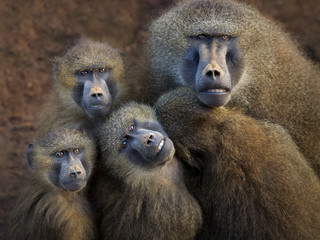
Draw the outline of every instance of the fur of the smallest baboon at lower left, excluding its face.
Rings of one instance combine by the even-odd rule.
[[[78,192],[55,187],[49,180],[50,155],[70,146],[85,148],[87,164],[94,160],[94,146],[75,130],[54,130],[37,140],[34,168],[9,220],[10,240],[95,239],[94,212],[86,189]],[[87,174],[90,174],[87,172]]]

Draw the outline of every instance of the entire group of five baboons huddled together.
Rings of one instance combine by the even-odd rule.
[[[8,239],[320,239],[320,68],[288,33],[181,1],[141,66],[90,39],[55,59]]]

